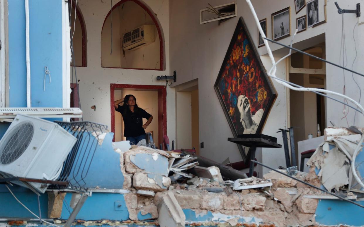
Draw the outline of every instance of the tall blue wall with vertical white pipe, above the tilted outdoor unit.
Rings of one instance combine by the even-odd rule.
[[[9,106],[27,106],[24,0],[8,1]],[[29,1],[32,107],[62,107],[62,1]],[[44,66],[51,73],[43,91]]]

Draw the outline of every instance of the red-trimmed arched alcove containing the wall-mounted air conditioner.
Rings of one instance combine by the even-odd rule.
[[[124,43],[123,47],[123,38],[126,40],[127,37],[124,34],[141,27],[144,32],[138,34],[144,39],[129,38],[133,43]],[[138,35],[130,34],[133,37]],[[138,0],[122,0],[114,5],[104,20],[101,32],[101,66],[164,70],[163,59],[163,33],[151,9]]]

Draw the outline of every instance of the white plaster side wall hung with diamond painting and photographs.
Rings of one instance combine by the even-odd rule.
[[[178,1],[170,0],[170,66],[171,69],[177,70],[177,84],[194,80],[199,80],[199,130],[200,142],[205,142],[205,148],[201,149],[201,155],[222,162],[226,157],[230,160],[241,160],[236,145],[227,142],[228,137],[232,137],[232,132],[227,124],[222,108],[218,102],[218,98],[214,92],[213,85],[221,67],[229,42],[233,35],[237,24],[238,17],[230,19],[218,25],[217,22],[199,24],[199,10],[211,5],[221,5],[231,2],[230,0],[200,0],[200,1]],[[271,14],[288,6],[291,7],[291,32],[293,34],[296,29],[296,18],[306,14],[306,8],[302,9],[296,15],[293,0],[254,0],[252,1],[256,9],[259,19],[268,19],[268,37],[272,37],[272,21]],[[359,1],[339,1],[340,7],[345,9],[355,8],[356,3],[364,4],[363,0]],[[248,27],[250,35],[254,42],[257,42],[257,26],[252,17],[252,13],[246,2],[237,1],[238,16],[243,16]],[[324,0],[319,0],[320,21],[324,20]],[[339,62],[340,53],[340,31],[341,31],[341,15],[337,13],[335,4],[328,1],[327,6],[328,22],[321,24],[315,28],[308,28],[307,31],[298,33],[294,43],[297,48],[308,48],[320,42],[326,42],[326,56],[330,61]],[[348,67],[351,67],[355,57],[354,42],[352,40],[352,31],[357,19],[354,14],[344,15],[345,18],[345,37],[347,38]],[[363,18],[363,16],[362,16]],[[360,19],[363,21],[364,19]],[[364,35],[364,25],[356,28],[354,36],[356,37],[356,47],[358,49],[358,57],[353,69],[363,73],[363,69],[359,68],[360,62],[363,62],[364,56],[363,44],[360,43],[360,37]],[[326,39],[317,38],[319,35],[326,33]],[[188,35],[186,35],[188,34]],[[309,42],[305,40],[313,38]],[[322,36],[321,36],[322,37]],[[288,45],[292,37],[280,40],[283,44]],[[299,43],[298,43],[299,42]],[[284,56],[288,50],[282,49],[277,44],[270,45],[274,51],[275,57]],[[267,51],[265,47],[258,48],[258,52],[263,56]],[[271,68],[268,57],[261,57],[266,69]],[[278,60],[278,58],[276,59]],[[285,61],[278,65],[276,75],[280,78],[286,78]],[[342,70],[326,65],[327,67],[327,88],[342,92],[343,76]],[[347,94],[351,97],[358,98],[358,90],[352,81],[351,74],[347,75]],[[360,80],[360,85],[364,88],[363,78],[355,76]],[[276,133],[278,128],[287,127],[287,111],[286,111],[286,89],[282,85],[273,82],[278,97],[273,105],[270,115],[266,121],[263,134],[272,135],[278,138],[278,143],[282,144],[281,134]],[[335,103],[331,100],[327,101],[327,122],[332,121],[336,125],[346,125],[345,119],[341,120],[343,114],[340,113],[343,108],[342,104]],[[360,119],[360,120],[359,120]],[[348,121],[353,122],[353,111],[350,110]],[[357,125],[363,125],[363,117],[357,116]],[[351,125],[350,123],[349,125]],[[279,165],[285,166],[284,153],[282,149],[262,149],[262,161],[272,167]],[[266,170],[263,170],[265,172]]]

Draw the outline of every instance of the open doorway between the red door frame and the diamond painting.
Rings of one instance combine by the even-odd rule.
[[[199,155],[198,82],[193,86],[179,85],[176,88],[176,147],[192,149]]]

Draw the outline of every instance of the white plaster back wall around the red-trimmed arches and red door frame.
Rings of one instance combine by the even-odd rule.
[[[116,4],[118,1],[112,1]],[[168,75],[169,68],[169,1],[146,0],[145,3],[157,16],[165,38],[166,70],[131,70],[101,67],[101,29],[110,1],[78,0],[87,30],[87,67],[77,67],[80,101],[85,121],[99,122],[111,130],[110,84],[165,85],[156,77]],[[175,139],[175,92],[167,87],[167,134]],[[96,105],[96,111],[90,107]]]

